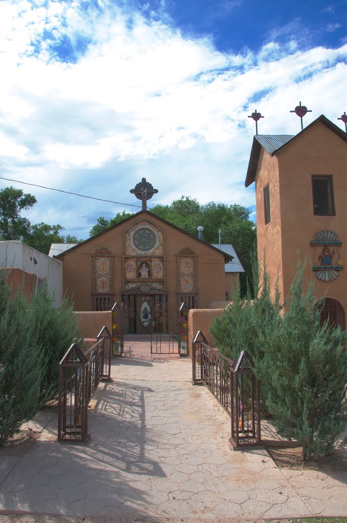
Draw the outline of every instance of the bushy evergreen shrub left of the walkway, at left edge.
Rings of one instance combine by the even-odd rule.
[[[79,338],[67,300],[55,308],[43,286],[31,303],[20,287],[11,301],[7,275],[0,270],[0,444],[56,395],[59,361]]]

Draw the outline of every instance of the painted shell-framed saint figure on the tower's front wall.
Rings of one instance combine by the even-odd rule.
[[[339,276],[343,268],[343,257],[341,252],[342,242],[338,240],[338,234],[325,229],[315,234],[311,245],[316,247],[312,270],[321,281],[332,281]]]

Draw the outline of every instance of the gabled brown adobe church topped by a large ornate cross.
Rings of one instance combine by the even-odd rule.
[[[177,311],[183,302],[204,309],[223,301],[233,256],[149,212],[146,202],[158,191],[145,178],[131,192],[142,211],[55,256],[75,311],[109,311],[123,302],[124,333],[143,334],[151,333],[160,303]]]

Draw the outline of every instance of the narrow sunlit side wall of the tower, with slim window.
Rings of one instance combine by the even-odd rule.
[[[280,181],[276,156],[271,156],[263,148],[259,155],[256,173],[256,206],[257,206],[257,248],[258,258],[264,259],[269,274],[274,282],[277,272],[280,276],[280,291],[283,293],[283,257],[282,257],[282,223],[280,203]],[[270,222],[265,224],[264,188],[269,185]],[[274,295],[274,285],[271,286]]]

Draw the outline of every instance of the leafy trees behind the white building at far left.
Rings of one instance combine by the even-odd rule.
[[[37,203],[31,194],[22,189],[5,187],[0,190],[0,240],[21,240],[38,251],[48,254],[52,243],[78,243],[76,236],[63,236],[64,227],[57,223],[31,224],[21,212]]]

